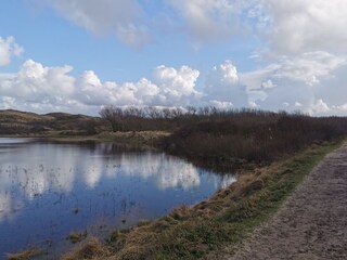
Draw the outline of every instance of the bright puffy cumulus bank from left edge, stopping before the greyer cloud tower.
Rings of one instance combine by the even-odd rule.
[[[73,77],[73,67],[48,67],[26,61],[15,74],[0,76],[0,107],[27,110],[74,110],[98,113],[107,104],[185,106],[202,95],[195,89],[200,72],[188,66],[178,69],[158,66],[153,81],[102,82],[93,70]]]

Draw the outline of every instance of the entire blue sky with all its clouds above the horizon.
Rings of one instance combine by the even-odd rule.
[[[3,0],[0,109],[347,115],[346,0]]]

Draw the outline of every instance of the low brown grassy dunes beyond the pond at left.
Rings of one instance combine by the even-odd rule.
[[[39,115],[20,110],[0,110],[0,134],[92,134],[102,125],[99,117],[49,113]]]

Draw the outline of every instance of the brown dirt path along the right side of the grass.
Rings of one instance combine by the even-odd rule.
[[[217,259],[347,259],[347,144],[325,157],[235,253],[226,251]]]

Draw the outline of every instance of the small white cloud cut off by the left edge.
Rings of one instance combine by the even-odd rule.
[[[24,49],[14,39],[9,36],[5,39],[0,37],[0,66],[5,66],[11,63],[12,56],[20,56]]]

